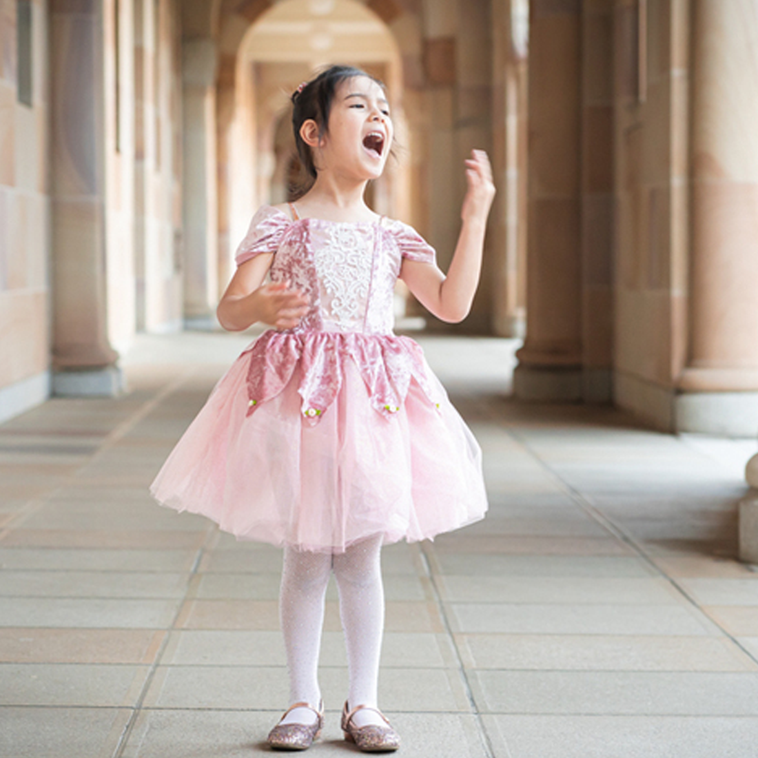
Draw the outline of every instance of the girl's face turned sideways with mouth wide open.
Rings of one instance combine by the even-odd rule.
[[[341,177],[377,179],[390,155],[393,135],[384,89],[368,77],[347,79],[334,92],[315,164]]]

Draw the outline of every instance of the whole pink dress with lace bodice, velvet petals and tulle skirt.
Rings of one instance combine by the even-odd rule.
[[[482,518],[478,443],[421,347],[393,334],[402,258],[433,262],[434,249],[400,221],[293,221],[265,205],[236,263],[260,253],[274,253],[271,280],[290,280],[309,311],[236,359],[153,496],[239,539],[330,553]]]

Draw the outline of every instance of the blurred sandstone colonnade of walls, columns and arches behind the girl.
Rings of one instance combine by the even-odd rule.
[[[217,327],[299,168],[290,94],[340,62],[397,124],[371,204],[443,267],[490,152],[463,329],[523,340],[517,398],[754,437],[756,49],[752,0],[3,0],[0,420],[118,393],[138,334]],[[402,286],[397,311],[423,316]]]

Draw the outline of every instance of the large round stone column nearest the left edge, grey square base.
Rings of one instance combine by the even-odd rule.
[[[123,389],[108,343],[102,3],[50,4],[53,393]]]

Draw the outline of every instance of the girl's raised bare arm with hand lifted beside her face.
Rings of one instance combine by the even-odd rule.
[[[418,302],[442,321],[463,321],[471,310],[481,271],[484,233],[495,186],[492,168],[483,150],[466,161],[468,190],[463,200],[461,233],[447,276],[436,265],[403,259],[400,278]]]

